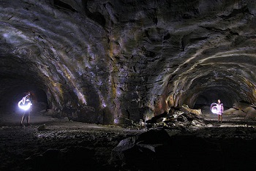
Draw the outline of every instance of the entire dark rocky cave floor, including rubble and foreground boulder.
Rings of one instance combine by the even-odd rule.
[[[217,123],[216,115],[203,113],[197,120],[151,129],[39,114],[31,115],[32,126],[20,127],[20,115],[14,114],[1,115],[0,121],[0,170],[256,168],[256,122],[234,115],[224,115]]]

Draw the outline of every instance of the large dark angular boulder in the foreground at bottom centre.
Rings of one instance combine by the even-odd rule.
[[[171,137],[179,132],[177,129],[151,129],[135,137],[128,137],[121,140],[116,148],[113,148],[111,163],[122,162],[123,165],[129,165],[129,168],[127,168],[129,170],[142,170],[154,164],[156,162],[155,160],[159,158],[159,155],[161,158],[166,157],[168,159],[167,156],[169,153],[167,151],[173,148],[170,145]]]

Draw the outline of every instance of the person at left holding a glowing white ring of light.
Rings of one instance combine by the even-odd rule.
[[[31,126],[30,122],[30,113],[31,113],[31,105],[32,105],[32,99],[30,92],[26,94],[26,96],[23,96],[23,98],[19,102],[19,107],[24,110],[23,116],[21,118],[20,126],[23,125],[23,121],[26,119],[27,126]]]

